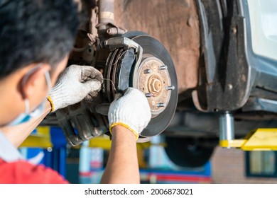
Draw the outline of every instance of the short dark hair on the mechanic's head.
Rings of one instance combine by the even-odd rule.
[[[72,0],[0,0],[0,79],[36,62],[55,66],[78,24]]]

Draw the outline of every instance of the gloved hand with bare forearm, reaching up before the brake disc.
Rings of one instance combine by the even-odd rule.
[[[140,182],[136,139],[150,120],[148,100],[141,91],[128,88],[123,96],[116,95],[109,107],[112,147],[101,183]]]

